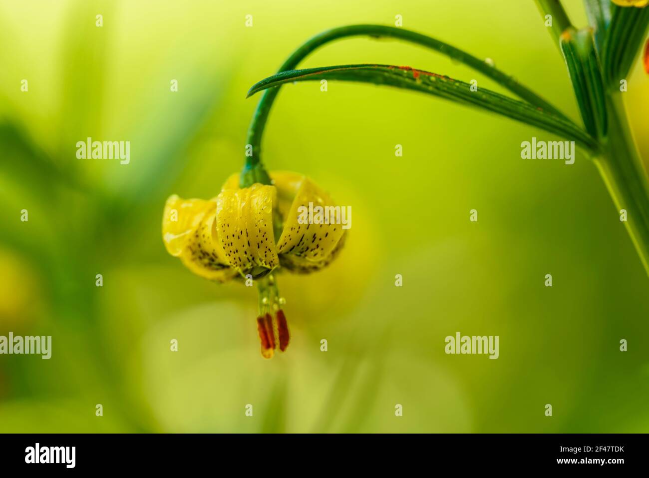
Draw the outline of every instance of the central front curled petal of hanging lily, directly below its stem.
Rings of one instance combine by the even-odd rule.
[[[230,266],[241,275],[263,275],[278,266],[273,234],[275,186],[226,189],[216,198],[216,223]]]

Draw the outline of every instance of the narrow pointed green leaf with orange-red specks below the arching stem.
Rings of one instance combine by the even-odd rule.
[[[472,91],[471,85],[463,81],[404,66],[361,64],[282,71],[254,84],[248,96],[287,82],[323,79],[384,84],[415,90],[516,119],[574,140],[591,150],[598,147],[597,142],[572,121],[543,108],[533,107],[485,88]]]

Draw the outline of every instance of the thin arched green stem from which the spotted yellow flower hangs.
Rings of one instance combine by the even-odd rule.
[[[528,103],[532,104],[534,107],[543,108],[548,112],[552,112],[557,116],[567,119],[565,114],[559,111],[556,107],[539,97],[539,95],[532,92],[529,88],[526,88],[526,86],[517,82],[513,77],[510,77],[499,69],[494,68],[484,60],[469,55],[469,53],[453,47],[452,45],[435,40],[435,38],[431,38],[430,36],[402,28],[387,27],[385,25],[349,25],[347,27],[339,27],[317,34],[295,50],[284,64],[280,66],[278,71],[295,69],[304,58],[318,47],[334,40],[348,38],[350,36],[397,38],[399,40],[406,40],[413,44],[428,47],[438,51],[439,53],[443,53],[453,60],[461,62],[476,71],[480,71],[480,73],[483,73],[485,76],[498,82],[498,84],[504,86],[504,88],[507,88],[510,92],[519,96],[521,99],[528,101]],[[250,186],[254,182],[262,182],[263,184],[270,184],[271,182],[268,173],[262,166],[262,135],[268,119],[268,114],[278,92],[279,87],[266,90],[252,116],[247,137],[247,144],[252,147],[252,155],[245,158],[245,166],[241,172],[240,179],[241,187]]]

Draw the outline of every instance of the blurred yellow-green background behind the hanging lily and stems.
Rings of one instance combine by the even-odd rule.
[[[397,14],[578,118],[532,0],[0,1],[0,335],[53,336],[50,360],[0,356],[1,432],[649,431],[649,280],[593,164],[520,159],[520,142],[555,139],[532,127],[390,88],[285,86],[265,162],[312,177],[353,222],[330,268],[280,275],[292,339],[273,360],[254,288],[165,252],[167,196],[213,197],[241,168],[248,88],[317,32]],[[364,62],[501,91],[391,40],[302,66]],[[649,158],[639,64],[629,84]],[[130,164],[78,160],[88,136],[129,140]],[[500,358],[445,355],[457,331],[500,336]]]

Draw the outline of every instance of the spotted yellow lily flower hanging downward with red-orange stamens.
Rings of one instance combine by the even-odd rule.
[[[310,205],[335,207],[326,192],[297,173],[274,172],[270,177],[272,185],[239,188],[239,175],[234,174],[209,200],[172,195],[162,218],[167,252],[193,273],[221,283],[258,281],[257,326],[262,355],[268,359],[289,342],[275,272],[320,270],[345,242],[345,229],[336,221],[304,221],[304,208]]]

